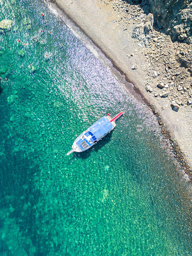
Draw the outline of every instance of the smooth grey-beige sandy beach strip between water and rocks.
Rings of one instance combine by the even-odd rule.
[[[112,6],[114,1],[106,0],[56,0],[57,6],[77,25],[84,33],[91,38],[105,55],[113,62],[114,67],[121,70],[128,81],[134,84],[134,89],[139,91],[155,112],[160,115],[161,121],[166,124],[172,135],[172,146],[180,148],[184,159],[181,156],[181,165],[192,166],[192,108],[180,106],[178,112],[171,108],[170,98],[154,97],[154,92],[146,91],[146,84],[151,80],[148,73],[157,70],[156,64],[151,64],[146,59],[146,48],[140,47],[138,42],[132,38],[132,31],[135,21],[131,18],[129,22],[121,22],[124,14]],[[55,3],[49,3],[52,8],[56,8]],[[60,17],[65,21],[62,12],[55,9]],[[123,19],[123,18],[122,18]],[[150,46],[149,46],[150,48]],[[130,55],[133,55],[130,57]],[[132,69],[137,65],[137,69]],[[152,79],[157,83],[161,79],[167,78],[159,74],[157,79]],[[163,80],[162,80],[163,81]],[[167,81],[164,81],[167,83]],[[178,146],[177,146],[178,144]],[[176,157],[177,157],[176,151]],[[185,168],[184,168],[185,169]],[[191,178],[191,169],[185,169]]]

